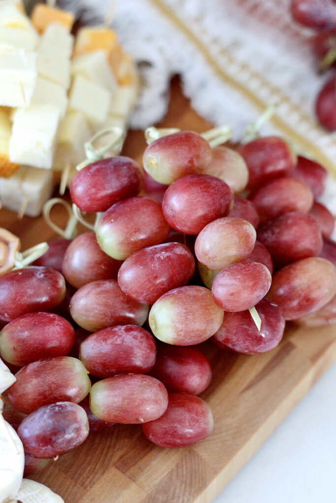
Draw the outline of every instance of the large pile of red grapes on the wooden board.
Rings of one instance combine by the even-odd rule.
[[[151,143],[143,163],[84,167],[71,197],[103,212],[96,232],[0,278],[0,354],[16,371],[4,417],[26,475],[115,423],[162,447],[198,442],[213,418],[197,345],[253,355],[279,344],[286,320],[336,321],[320,164],[279,137],[236,151],[189,131]]]

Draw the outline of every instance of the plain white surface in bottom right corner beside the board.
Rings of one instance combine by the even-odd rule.
[[[336,363],[213,503],[336,503]]]

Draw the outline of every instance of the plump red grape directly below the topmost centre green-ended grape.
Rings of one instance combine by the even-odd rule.
[[[162,210],[173,229],[198,234],[208,223],[225,217],[232,204],[233,193],[223,180],[209,175],[188,175],[166,190]]]

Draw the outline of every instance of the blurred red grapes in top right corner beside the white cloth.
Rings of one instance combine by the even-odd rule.
[[[292,0],[291,12],[295,21],[316,30],[311,39],[319,70],[334,68],[336,62],[336,3],[334,0]],[[336,74],[324,83],[315,104],[320,124],[336,130]]]

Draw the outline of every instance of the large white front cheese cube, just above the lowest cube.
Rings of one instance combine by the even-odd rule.
[[[59,107],[32,105],[14,116],[10,160],[50,169],[57,140]]]

